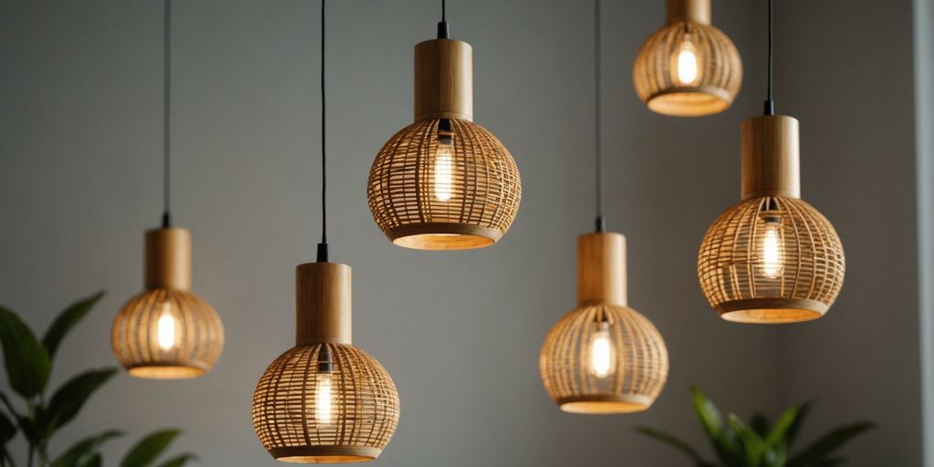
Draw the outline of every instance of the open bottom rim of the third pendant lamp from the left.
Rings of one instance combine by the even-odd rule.
[[[414,249],[473,249],[488,247],[502,232],[488,227],[453,222],[400,225],[386,233],[392,243]]]

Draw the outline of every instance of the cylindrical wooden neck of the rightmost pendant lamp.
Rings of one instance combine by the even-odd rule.
[[[798,120],[766,115],[743,120],[743,199],[801,197]]]

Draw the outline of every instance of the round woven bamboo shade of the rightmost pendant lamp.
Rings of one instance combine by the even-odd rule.
[[[767,220],[776,225],[772,233]],[[778,252],[771,263],[763,253],[767,235]],[[739,322],[820,318],[840,293],[844,270],[843,246],[828,219],[785,196],[730,207],[704,235],[698,255],[704,296],[723,318]]]

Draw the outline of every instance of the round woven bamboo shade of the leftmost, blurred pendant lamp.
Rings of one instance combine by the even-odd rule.
[[[174,342],[159,342],[160,319],[174,322]],[[218,360],[224,328],[210,304],[184,290],[146,290],[130,299],[114,319],[114,354],[131,375],[155,379],[204,375]]]

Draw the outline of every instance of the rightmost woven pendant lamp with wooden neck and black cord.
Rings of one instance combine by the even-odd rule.
[[[775,115],[772,16],[765,115],[743,121],[743,201],[714,221],[698,255],[701,290],[720,316],[785,323],[824,316],[843,285],[833,226],[800,199],[798,120]]]

